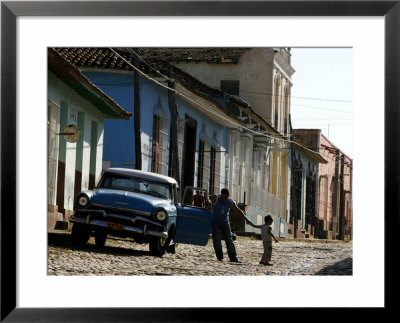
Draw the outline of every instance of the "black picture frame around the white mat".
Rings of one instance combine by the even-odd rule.
[[[389,262],[399,233],[400,4],[396,1],[2,1],[1,2],[1,321],[238,321],[244,308],[17,308],[16,299],[16,19],[18,16],[384,16],[385,17],[385,309],[398,286]],[[373,125],[371,125],[373,128]],[[368,138],[366,138],[368,140]],[[373,147],[371,147],[373,155]],[[369,161],[372,165],[372,160]],[[372,167],[372,166],[371,166]],[[371,188],[373,189],[373,188]],[[372,225],[372,224],[371,224]],[[372,233],[371,233],[371,238]],[[372,259],[373,261],[373,259]],[[390,280],[389,280],[390,275]],[[39,292],[39,291],[38,291]],[[298,294],[298,291],[295,291]],[[316,296],[318,293],[316,294]],[[242,297],[238,295],[238,297]],[[266,297],[273,297],[267,293]],[[312,307],[312,301],[310,301]],[[298,310],[298,309],[297,309]],[[285,319],[298,311],[285,309]],[[332,310],[332,309],[331,309]],[[251,316],[270,315],[251,309]],[[297,314],[296,314],[297,313]],[[337,313],[337,312],[335,312]],[[338,317],[340,319],[340,317]]]

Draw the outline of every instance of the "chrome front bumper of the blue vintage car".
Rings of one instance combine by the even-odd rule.
[[[113,231],[117,231],[117,232],[143,234],[143,235],[149,235],[149,236],[158,237],[158,238],[167,238],[168,237],[167,232],[148,230],[147,224],[145,224],[143,229],[141,229],[141,228],[136,228],[136,227],[132,227],[129,225],[112,223],[112,222],[108,222],[108,221],[90,220],[90,216],[88,216],[87,218],[80,218],[75,215],[71,216],[71,218],[69,219],[69,222],[91,225],[94,227],[109,229],[109,230],[113,230]]]

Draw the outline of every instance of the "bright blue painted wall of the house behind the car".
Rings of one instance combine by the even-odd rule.
[[[102,71],[85,71],[84,74],[98,87],[100,87],[107,95],[114,99],[122,108],[134,113],[134,86],[133,75],[128,73],[112,73]],[[150,171],[151,169],[151,145],[153,132],[153,114],[155,108],[161,105],[168,116],[170,126],[170,113],[168,107],[168,90],[145,77],[140,78],[140,100],[141,100],[141,142],[142,153],[144,153],[143,145],[148,146],[147,158],[142,160],[142,169]],[[176,104],[178,106],[178,117],[185,119],[188,114],[191,118],[197,120],[196,131],[196,151],[202,124],[205,123],[206,133],[210,138],[210,143],[214,137],[214,130],[217,131],[217,140],[222,146],[222,150],[226,151],[229,147],[229,129],[223,127],[206,117],[191,103],[183,98],[176,96]],[[135,139],[134,139],[134,118],[130,120],[106,120],[104,124],[104,149],[103,160],[110,161],[111,167],[134,168],[135,163]],[[169,137],[168,137],[169,149]],[[222,159],[225,154],[221,154]],[[196,152],[195,166],[195,183],[197,181],[197,162],[198,154]],[[224,166],[221,160],[221,166]],[[221,170],[220,186],[227,186],[224,167]]]

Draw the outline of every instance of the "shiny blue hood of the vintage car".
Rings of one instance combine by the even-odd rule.
[[[151,213],[157,206],[171,205],[169,200],[159,197],[105,188],[93,190],[93,195],[90,200],[91,203],[95,204],[146,213]]]

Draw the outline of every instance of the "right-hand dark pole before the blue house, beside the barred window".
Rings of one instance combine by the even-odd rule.
[[[172,65],[169,66],[169,80],[168,87],[175,88],[175,81],[173,80]],[[178,109],[175,102],[174,91],[168,89],[168,106],[171,113],[171,137],[170,137],[170,154],[172,154],[170,161],[171,175],[180,185],[179,180],[179,158],[178,158]]]

